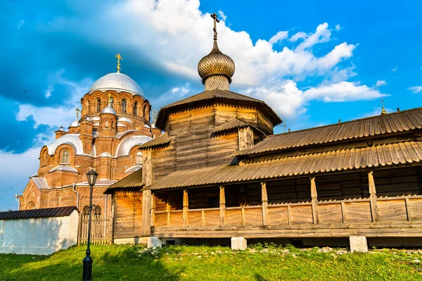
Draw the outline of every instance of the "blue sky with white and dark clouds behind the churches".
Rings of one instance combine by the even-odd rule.
[[[203,91],[212,49],[236,64],[231,90],[301,130],[422,106],[421,1],[20,1],[0,10],[0,210],[16,209],[39,150],[75,119],[101,76],[122,73],[153,109]],[[79,106],[80,107],[80,106]]]

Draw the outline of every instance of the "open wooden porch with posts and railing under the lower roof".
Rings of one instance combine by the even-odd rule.
[[[291,192],[283,193],[286,188],[280,187],[281,181],[255,182],[260,190],[250,196],[250,206],[226,206],[227,202],[233,201],[233,192],[227,191],[235,188],[229,185],[216,187],[219,206],[215,208],[198,208],[201,204],[193,203],[202,200],[198,194],[196,199],[189,198],[195,189],[179,190],[180,209],[177,209],[174,191],[165,202],[160,199],[162,195],[153,194],[151,235],[160,238],[421,237],[422,184],[419,171],[415,167],[376,171],[378,177],[374,178],[374,171],[368,170],[364,177],[359,175],[359,182],[357,173],[342,174],[343,180],[333,178],[340,189],[331,184],[329,178],[338,175],[311,176],[302,178],[301,185],[295,187],[295,198]],[[388,177],[386,173],[394,175]],[[305,181],[309,185],[302,185]],[[378,196],[376,182],[379,183]],[[347,190],[352,194],[347,194]],[[356,194],[361,194],[361,198]],[[258,196],[260,200],[257,200]],[[239,201],[241,197],[238,196]],[[208,199],[212,202],[212,194]],[[194,208],[189,208],[190,204]]]

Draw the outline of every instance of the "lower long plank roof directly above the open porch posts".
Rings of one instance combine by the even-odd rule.
[[[245,163],[241,166],[182,170],[171,173],[144,189],[219,185],[343,170],[396,166],[421,163],[421,161],[422,142],[400,142]]]

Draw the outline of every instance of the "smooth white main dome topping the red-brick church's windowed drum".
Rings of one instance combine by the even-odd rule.
[[[100,79],[96,80],[89,89],[89,93],[94,91],[105,92],[107,90],[113,90],[116,92],[129,92],[133,95],[142,96],[145,98],[143,91],[139,85],[132,80],[131,77],[122,73],[108,73]]]

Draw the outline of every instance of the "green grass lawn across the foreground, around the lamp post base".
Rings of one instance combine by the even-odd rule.
[[[92,246],[93,280],[422,280],[422,254],[377,250],[338,254],[258,244],[223,246]],[[81,280],[85,246],[51,256],[0,254],[0,280]]]

